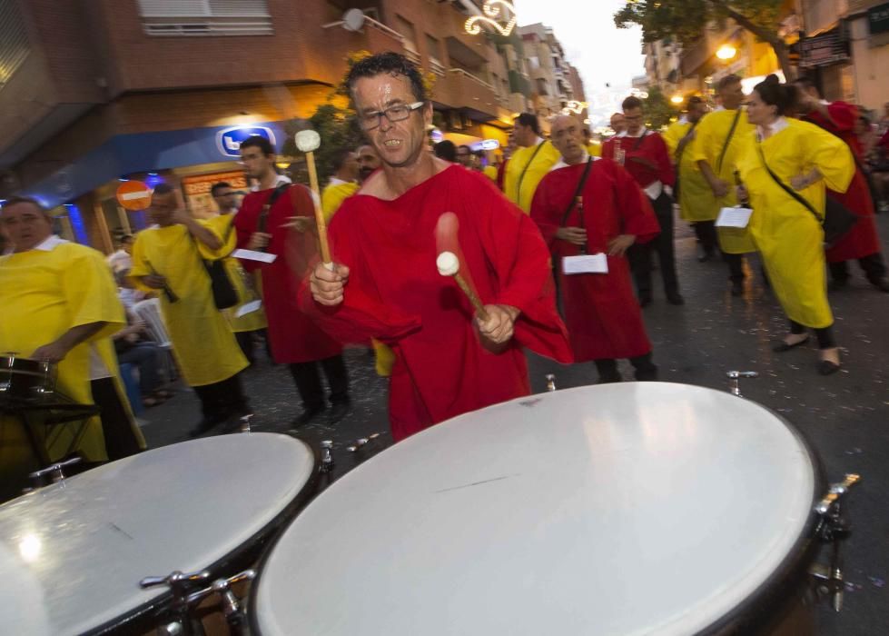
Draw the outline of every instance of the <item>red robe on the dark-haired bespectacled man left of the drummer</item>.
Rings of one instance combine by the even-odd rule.
[[[245,247],[257,231],[262,206],[272,196],[272,189],[247,194],[234,217],[238,247]],[[262,273],[262,303],[269,323],[272,357],[276,363],[306,363],[342,353],[342,345],[321,331],[300,310],[299,290],[307,262],[317,252],[311,233],[300,234],[282,228],[288,217],[314,217],[311,194],[305,186],[294,184],[278,197],[269,210],[266,232],[272,234],[267,252],[278,256],[274,263],[242,260],[248,272]]]

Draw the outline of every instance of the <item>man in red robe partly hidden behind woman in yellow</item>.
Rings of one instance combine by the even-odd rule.
[[[849,234],[826,251],[831,289],[845,287],[849,280],[846,261],[858,259],[867,280],[877,289],[889,292],[886,266],[883,254],[880,253],[880,238],[874,223],[874,200],[867,187],[867,177],[862,172],[862,148],[854,130],[855,122],[858,120],[858,107],[845,102],[825,102],[821,99],[815,82],[808,77],[796,79],[795,84],[799,93],[797,106],[803,114],[803,120],[820,126],[845,141],[852,151],[857,166],[852,183],[845,193],[827,191],[827,196],[834,198],[859,217],[858,223],[854,224]]]

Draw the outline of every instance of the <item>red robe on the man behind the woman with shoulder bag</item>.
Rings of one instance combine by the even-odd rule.
[[[845,141],[854,154],[856,163],[861,165],[861,143],[854,132],[855,122],[858,119],[858,108],[845,102],[833,102],[827,105],[827,113],[830,120],[817,111],[805,115],[803,120],[824,128],[828,133],[835,134]],[[828,263],[839,263],[862,258],[880,251],[880,238],[876,233],[874,223],[874,200],[871,191],[867,187],[867,177],[860,167],[855,168],[852,183],[845,193],[827,191],[827,196],[844,204],[849,210],[858,214],[858,223],[852,231],[846,234],[833,247],[826,251]]]

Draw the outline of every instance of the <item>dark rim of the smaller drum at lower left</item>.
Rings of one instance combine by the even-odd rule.
[[[283,433],[273,432],[265,434],[283,435]],[[278,536],[280,536],[281,534],[280,531],[284,527],[286,527],[287,521],[295,518],[296,515],[300,512],[301,508],[304,507],[311,500],[311,496],[315,492],[319,481],[318,467],[321,463],[321,455],[319,454],[317,449],[315,449],[309,442],[306,442],[301,437],[294,437],[292,435],[283,436],[289,437],[296,442],[300,442],[309,449],[309,452],[311,452],[312,462],[311,471],[309,473],[309,481],[303,484],[300,492],[296,493],[296,496],[291,500],[291,502],[287,504],[282,512],[276,514],[272,521],[266,523],[258,532],[253,533],[250,539],[243,542],[240,546],[238,546],[231,552],[226,553],[217,561],[213,561],[211,565],[203,568],[203,570],[209,571],[211,573],[210,579],[207,581],[208,585],[219,576],[220,570],[224,569],[232,561],[236,561],[244,552],[247,552],[248,548],[246,546],[255,546],[260,542],[269,541],[270,538],[272,538],[272,543],[276,543],[278,540]],[[159,448],[163,448],[163,446]],[[265,549],[263,549],[263,553],[264,552]],[[136,581],[133,581],[133,583],[135,582]],[[128,611],[111,621],[106,621],[103,624],[98,625],[97,627],[94,627],[88,631],[84,631],[82,636],[94,636],[98,634],[113,633],[127,627],[134,621],[140,621],[143,619],[154,621],[156,619],[160,619],[163,616],[163,613],[169,609],[171,601],[173,601],[173,593],[169,590],[165,590],[158,596],[154,597],[152,600],[145,601],[142,605],[139,605],[133,610]]]

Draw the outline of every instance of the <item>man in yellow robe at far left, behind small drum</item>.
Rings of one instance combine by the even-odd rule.
[[[125,326],[123,305],[102,253],[53,234],[52,217],[33,199],[14,197],[0,211],[9,253],[0,256],[0,351],[56,363],[56,390],[98,403],[103,418],[54,427],[44,437],[51,461],[119,459],[145,448],[120,383],[111,335]],[[21,422],[0,425],[0,480],[35,468]],[[15,480],[15,482],[20,482]]]

